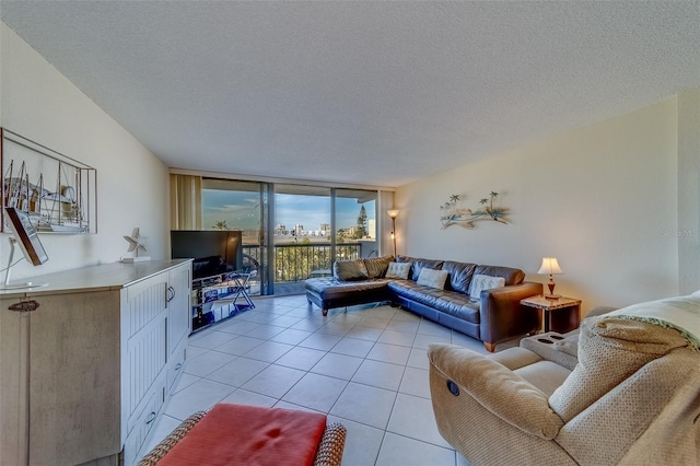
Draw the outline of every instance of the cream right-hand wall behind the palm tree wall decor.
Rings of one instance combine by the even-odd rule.
[[[541,257],[555,256],[565,273],[557,292],[583,299],[584,313],[677,294],[677,119],[674,97],[402,186],[399,254],[518,267],[540,282]],[[439,207],[450,195],[466,195],[474,208],[491,190],[510,208],[510,224],[441,231]],[[698,196],[685,206],[699,208]],[[686,288],[700,288],[693,280]]]

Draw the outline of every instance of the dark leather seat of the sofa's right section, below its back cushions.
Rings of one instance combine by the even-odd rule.
[[[399,296],[430,306],[436,311],[458,317],[472,324],[479,324],[479,304],[469,301],[469,296],[457,291],[438,290],[418,284],[413,280],[393,280],[388,288]]]

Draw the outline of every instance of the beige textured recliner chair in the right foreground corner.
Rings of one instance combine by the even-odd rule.
[[[697,337],[609,314],[580,330],[578,351],[570,339],[489,356],[432,345],[442,436],[475,466],[699,465]]]

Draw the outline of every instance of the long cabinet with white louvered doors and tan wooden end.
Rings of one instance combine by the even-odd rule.
[[[108,264],[0,292],[0,465],[138,459],[185,361],[190,269]]]

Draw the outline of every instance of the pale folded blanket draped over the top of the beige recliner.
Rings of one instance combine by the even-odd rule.
[[[646,322],[680,331],[693,349],[700,348],[700,295],[667,298],[633,304],[608,317]]]

